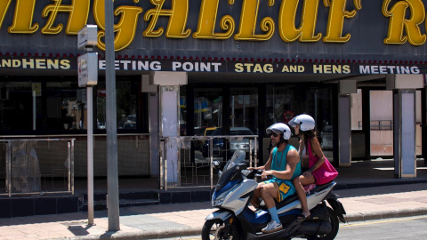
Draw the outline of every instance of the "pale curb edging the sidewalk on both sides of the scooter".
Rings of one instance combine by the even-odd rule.
[[[345,216],[347,223],[351,221],[363,221],[363,220],[383,220],[390,218],[401,218],[418,215],[427,215],[427,207],[403,209],[397,211],[378,211],[378,212],[360,212],[353,213]],[[119,239],[119,240],[138,240],[138,239],[161,239],[168,237],[180,237],[180,236],[199,236],[202,232],[202,228],[176,228],[166,231],[149,231],[142,232],[137,231],[133,233],[126,232],[106,232],[101,236],[76,236],[62,239],[69,240],[94,240],[94,239]]]

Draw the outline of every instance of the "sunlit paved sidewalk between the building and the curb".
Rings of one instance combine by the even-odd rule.
[[[427,214],[427,183],[336,190],[349,222]],[[0,239],[157,239],[200,235],[210,202],[158,204],[120,209],[120,230],[108,232],[108,212],[0,219]]]

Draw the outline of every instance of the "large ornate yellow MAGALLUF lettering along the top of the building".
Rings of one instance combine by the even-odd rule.
[[[105,35],[104,1],[68,1],[70,4],[65,2],[2,0],[0,1],[0,28],[7,28],[12,35],[31,35],[37,31],[43,35],[57,35],[61,31],[65,31],[67,35],[77,35],[78,30],[88,23],[89,16],[92,15],[98,28],[101,28],[98,31],[97,47],[102,51],[105,50],[105,44],[102,42],[102,37]],[[117,5],[117,2],[120,3]],[[357,19],[358,14],[364,11],[381,16],[383,20],[388,21],[389,27],[387,35],[383,37],[383,44],[408,43],[417,46],[425,44],[427,38],[424,33],[426,14],[422,0],[383,0],[381,9],[375,10],[377,12],[369,8],[364,9],[361,0],[201,0],[197,9],[191,8],[189,0],[133,0],[127,1],[129,4],[125,2],[116,1],[115,3],[117,6],[115,14],[118,19],[115,25],[116,51],[125,49],[133,43],[135,37],[138,39],[141,36],[269,41],[272,36],[278,35],[285,43],[322,41],[326,44],[343,44],[349,42],[351,35],[356,31],[365,30],[363,28],[349,28],[348,32],[343,30],[350,20]],[[12,24],[2,26],[7,13],[13,11],[12,3],[15,3]],[[36,4],[44,5],[36,8]],[[235,5],[239,6],[237,11],[240,12],[239,15],[219,15],[220,9],[222,12],[236,12]],[[36,9],[42,8],[41,12],[36,12]],[[328,11],[327,20],[322,20],[324,26],[318,26],[318,14],[325,11]],[[260,12],[270,12],[270,16],[260,19]],[[58,23],[59,16],[63,14],[68,15],[68,21]],[[198,16],[197,28],[189,28],[189,16],[195,14]],[[40,17],[43,19],[41,20]],[[165,28],[159,27],[163,18],[169,19]],[[144,22],[142,23],[140,19]],[[145,27],[142,32],[137,32],[141,24]],[[375,22],[365,24],[375,24]],[[366,26],[366,28],[369,27]],[[318,32],[317,28],[326,30]]]

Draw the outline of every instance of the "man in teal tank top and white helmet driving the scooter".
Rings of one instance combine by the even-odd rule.
[[[286,124],[272,124],[266,130],[270,134],[270,140],[273,147],[267,163],[263,166],[251,169],[261,169],[262,179],[272,176],[271,180],[266,180],[258,184],[254,190],[254,197],[251,203],[257,207],[260,204],[260,197],[267,206],[271,221],[267,227],[262,228],[263,233],[272,233],[283,228],[278,219],[276,201],[279,203],[286,196],[296,193],[293,180],[301,174],[300,157],[296,148],[288,144],[291,137],[291,129]]]

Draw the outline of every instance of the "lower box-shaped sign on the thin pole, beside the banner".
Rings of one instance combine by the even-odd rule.
[[[98,84],[98,53],[86,52],[77,58],[78,86]]]

